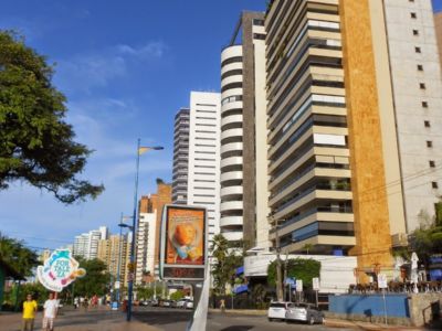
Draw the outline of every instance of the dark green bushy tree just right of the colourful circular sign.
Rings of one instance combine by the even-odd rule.
[[[101,259],[77,258],[81,268],[86,269],[86,276],[75,280],[75,296],[103,296],[108,292],[110,274]]]

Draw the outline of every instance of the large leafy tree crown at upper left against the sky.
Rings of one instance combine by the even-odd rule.
[[[0,190],[25,181],[70,204],[104,188],[76,178],[92,151],[73,140],[53,73],[23,38],[0,30]]]

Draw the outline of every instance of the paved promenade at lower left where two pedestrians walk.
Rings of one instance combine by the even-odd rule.
[[[39,312],[35,318],[34,330],[41,330],[42,313]],[[1,331],[20,331],[21,313],[0,313]],[[54,329],[60,331],[158,331],[159,329],[147,325],[133,319],[126,322],[125,314],[120,311],[108,309],[90,309],[84,311],[67,310],[60,314]]]

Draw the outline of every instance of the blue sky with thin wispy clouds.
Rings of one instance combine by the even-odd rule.
[[[442,0],[433,1],[442,10]],[[190,90],[219,90],[220,51],[242,10],[265,0],[3,0],[0,29],[18,29],[56,63],[67,121],[94,149],[83,177],[103,183],[96,201],[65,206],[23,183],[0,191],[0,231],[32,247],[56,248],[76,234],[130,214],[136,139],[161,145],[140,162],[139,192],[171,178],[175,113]]]

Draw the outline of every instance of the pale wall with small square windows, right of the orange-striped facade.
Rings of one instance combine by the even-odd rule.
[[[407,231],[441,195],[442,81],[431,0],[383,1]]]

